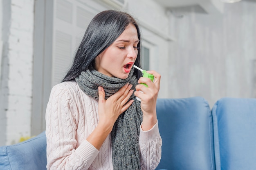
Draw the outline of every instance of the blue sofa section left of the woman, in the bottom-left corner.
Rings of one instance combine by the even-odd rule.
[[[0,170],[43,170],[46,164],[45,132],[24,142],[0,147]]]

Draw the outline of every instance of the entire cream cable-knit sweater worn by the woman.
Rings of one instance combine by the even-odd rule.
[[[110,135],[100,150],[86,138],[98,124],[98,101],[87,96],[75,81],[52,88],[46,109],[47,169],[112,170]],[[158,124],[140,132],[140,165],[154,170],[161,159]]]

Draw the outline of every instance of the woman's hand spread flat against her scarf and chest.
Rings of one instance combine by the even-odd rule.
[[[118,116],[126,111],[133,100],[127,102],[133,93],[132,84],[127,83],[121,87],[117,93],[105,100],[105,91],[103,87],[98,87],[99,90],[99,125],[112,131],[112,128]],[[126,103],[127,102],[127,103]]]

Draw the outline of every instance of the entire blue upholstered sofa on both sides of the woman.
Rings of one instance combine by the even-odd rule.
[[[158,99],[162,159],[157,170],[256,170],[256,99]],[[0,147],[0,170],[46,169],[45,132]]]

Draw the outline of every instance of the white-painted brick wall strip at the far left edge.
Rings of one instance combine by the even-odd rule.
[[[7,36],[3,41],[6,51],[2,61],[7,75],[1,80],[6,85],[1,87],[1,100],[7,105],[1,104],[1,111],[4,110],[6,116],[3,129],[6,130],[5,144],[9,145],[31,132],[34,0],[4,1],[11,12],[6,23],[9,29],[2,33]]]

